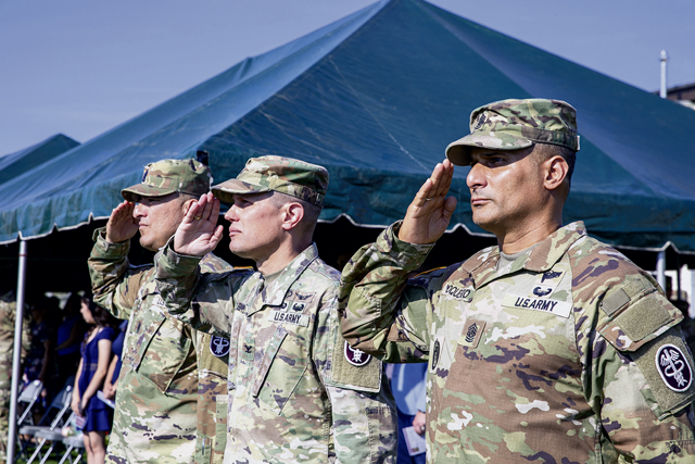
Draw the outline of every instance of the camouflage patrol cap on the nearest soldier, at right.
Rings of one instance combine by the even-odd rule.
[[[552,143],[579,151],[577,110],[561,100],[533,98],[488,103],[470,113],[470,135],[446,147],[458,166],[470,164],[470,149],[520,150]]]

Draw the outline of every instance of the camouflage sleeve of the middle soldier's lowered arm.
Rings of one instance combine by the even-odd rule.
[[[331,404],[336,462],[395,463],[397,415],[388,378],[381,374],[379,360],[361,366],[345,361],[337,302],[332,292],[321,304],[313,347],[314,363],[323,367],[318,372]]]

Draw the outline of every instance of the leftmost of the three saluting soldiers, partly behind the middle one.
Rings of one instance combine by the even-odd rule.
[[[224,448],[226,436],[216,429],[226,418],[217,416],[216,399],[227,394],[229,340],[169,316],[154,286],[154,267],[131,266],[127,259],[138,230],[142,247],[163,247],[188,208],[210,191],[211,180],[207,166],[193,160],[149,164],[142,183],[122,191],[126,201],[94,234],[89,258],[94,301],[129,319],[109,462],[222,462],[214,450]],[[231,269],[212,253],[201,267],[205,273]]]

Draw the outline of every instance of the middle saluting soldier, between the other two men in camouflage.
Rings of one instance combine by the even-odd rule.
[[[312,242],[327,187],[321,166],[251,159],[213,193],[231,203],[230,250],[258,271],[200,274],[197,256],[222,236],[213,193],[157,255],[168,310],[231,340],[225,463],[394,462],[396,417],[381,363],[340,335],[339,274]]]

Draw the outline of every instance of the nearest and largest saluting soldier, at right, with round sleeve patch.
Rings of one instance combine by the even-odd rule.
[[[679,311],[581,222],[561,226],[574,109],[504,100],[470,128],[405,220],[343,271],[344,337],[389,362],[428,361],[429,462],[695,462]],[[408,280],[456,206],[452,163],[471,166],[473,222],[498,246]]]

